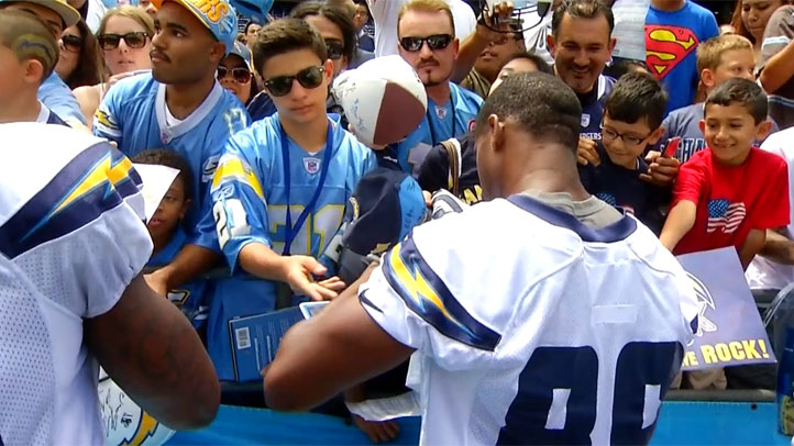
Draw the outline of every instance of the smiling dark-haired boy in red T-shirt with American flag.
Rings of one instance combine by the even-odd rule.
[[[682,165],[660,239],[676,255],[734,246],[747,269],[765,230],[789,224],[786,164],[754,146],[771,126],[767,94],[754,82],[724,82],[704,111],[707,147]]]

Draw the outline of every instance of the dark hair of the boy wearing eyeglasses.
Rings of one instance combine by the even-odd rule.
[[[604,104],[610,120],[633,124],[646,119],[651,130],[659,129],[668,108],[668,93],[653,75],[629,73],[618,79]]]

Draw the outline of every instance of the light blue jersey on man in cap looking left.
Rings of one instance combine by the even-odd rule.
[[[197,3],[209,8],[212,2]],[[216,82],[189,116],[168,125],[165,89],[150,73],[123,79],[97,109],[93,133],[115,142],[129,157],[146,149],[166,148],[185,158],[195,179],[190,185],[194,200],[185,221],[190,235],[188,243],[217,249],[212,225],[201,225],[200,221],[210,213],[209,185],[221,149],[229,136],[247,126],[249,115],[240,101]]]

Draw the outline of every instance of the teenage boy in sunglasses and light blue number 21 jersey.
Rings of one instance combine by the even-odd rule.
[[[212,180],[218,241],[233,274],[214,285],[207,333],[221,380],[234,379],[230,319],[273,311],[277,298],[289,304],[293,292],[328,300],[344,288],[330,277],[334,234],[353,188],[377,164],[326,112],[333,64],[315,27],[277,20],[253,53],[277,112],[229,140]]]

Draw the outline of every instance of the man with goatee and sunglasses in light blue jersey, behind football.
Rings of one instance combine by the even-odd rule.
[[[378,150],[381,165],[418,170],[434,145],[468,132],[483,100],[450,81],[460,42],[450,7],[443,0],[411,0],[397,19],[399,54],[417,70],[428,93],[422,123],[397,145]]]

